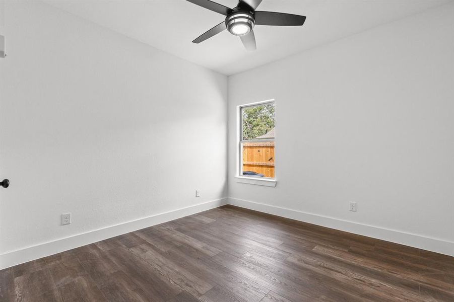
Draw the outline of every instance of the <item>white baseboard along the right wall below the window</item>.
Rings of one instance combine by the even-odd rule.
[[[233,197],[228,197],[228,204],[303,222],[326,226],[327,228],[331,229],[341,230],[349,233],[454,256],[454,242],[450,241],[424,237],[421,235],[380,228],[379,226],[316,215]]]

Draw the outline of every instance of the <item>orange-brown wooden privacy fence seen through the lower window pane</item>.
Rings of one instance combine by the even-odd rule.
[[[274,177],[274,141],[243,143],[243,171]]]

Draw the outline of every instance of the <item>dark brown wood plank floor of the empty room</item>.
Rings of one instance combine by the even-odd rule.
[[[1,301],[454,301],[454,257],[233,206],[0,271]]]

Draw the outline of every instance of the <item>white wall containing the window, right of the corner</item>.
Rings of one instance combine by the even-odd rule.
[[[454,256],[453,29],[450,4],[229,77],[231,202]],[[236,183],[235,107],[268,99],[277,186]]]

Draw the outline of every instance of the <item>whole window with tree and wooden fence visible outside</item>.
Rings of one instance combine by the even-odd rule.
[[[238,106],[238,117],[238,178],[273,181],[276,126],[274,100]]]

